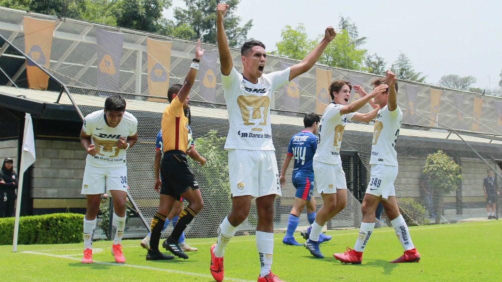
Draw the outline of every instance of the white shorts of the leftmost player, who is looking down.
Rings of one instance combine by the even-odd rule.
[[[127,189],[127,166],[125,164],[112,167],[85,165],[81,194],[97,195],[109,190],[127,192]]]

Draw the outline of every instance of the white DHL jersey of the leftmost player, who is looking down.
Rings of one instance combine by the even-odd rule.
[[[88,114],[84,118],[82,130],[91,136],[97,154],[87,154],[86,162],[97,167],[110,167],[126,165],[126,150],[118,149],[118,138],[133,136],[138,129],[138,120],[131,113],[124,112],[122,120],[117,127],[112,128],[106,124],[104,110]]]

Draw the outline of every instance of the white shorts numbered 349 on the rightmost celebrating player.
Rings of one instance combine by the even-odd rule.
[[[385,164],[372,164],[366,193],[382,196],[388,199],[390,196],[396,196],[394,181],[398,176],[398,167]]]

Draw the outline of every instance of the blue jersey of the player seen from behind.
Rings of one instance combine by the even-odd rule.
[[[310,131],[300,131],[289,141],[287,154],[293,156],[293,173],[314,172],[312,159],[317,149],[317,136]]]

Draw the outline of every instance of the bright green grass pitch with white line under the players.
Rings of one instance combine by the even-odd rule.
[[[500,281],[502,279],[502,220],[414,226],[410,233],[422,259],[418,263],[389,263],[402,254],[393,228],[375,229],[360,265],[343,264],[332,253],[352,247],[356,230],[330,230],[333,239],[321,245],[324,259],[302,246],[282,243],[275,234],[272,270],[295,281]],[[295,233],[299,242],[304,240]],[[93,243],[94,263],[83,264],[82,244],[0,246],[2,281],[214,281],[209,273],[209,247],[215,238],[188,239],[199,248],[190,258],[146,261],[140,239],[122,241],[125,264],[110,254],[110,241]],[[162,241],[161,241],[162,242]],[[161,248],[162,249],[162,248]],[[167,251],[165,251],[168,253]],[[256,281],[259,260],[254,236],[234,237],[225,252],[223,281]]]

